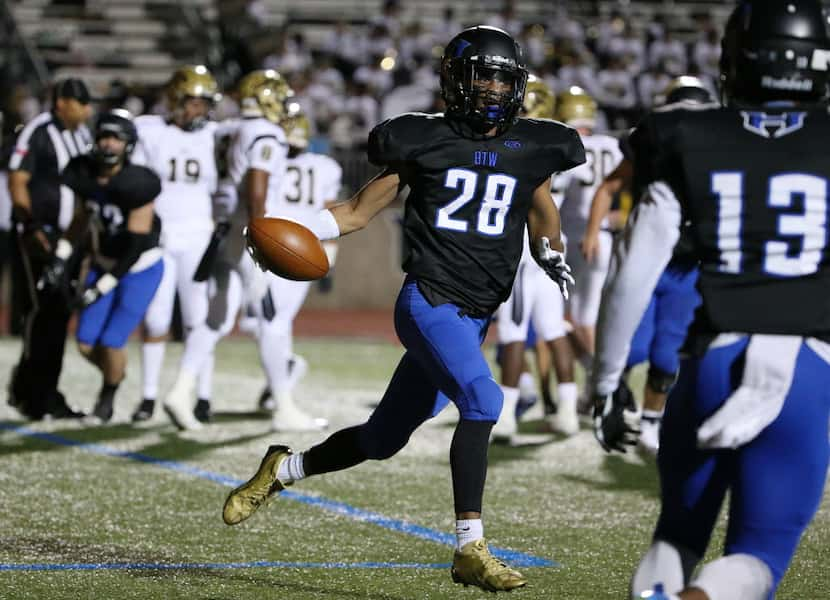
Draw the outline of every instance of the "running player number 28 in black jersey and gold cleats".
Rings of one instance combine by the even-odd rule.
[[[585,160],[576,131],[517,118],[527,71],[507,33],[473,27],[456,36],[441,62],[446,114],[404,114],[375,127],[369,158],[385,170],[351,200],[318,214],[321,239],[357,231],[410,187],[404,213],[407,278],[395,307],[406,347],[369,420],[338,431],[307,452],[271,446],[258,472],[228,496],[229,525],[273,493],[310,475],[403,448],[421,423],[452,401],[460,420],[450,447],[457,545],[453,580],[490,591],[525,585],[492,556],[481,504],[490,430],[502,392],[480,344],[490,316],[510,294],[525,228],[532,253],[565,289],[559,214],[550,177]]]

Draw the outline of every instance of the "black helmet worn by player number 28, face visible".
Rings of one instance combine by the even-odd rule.
[[[471,27],[444,50],[441,96],[447,114],[463,119],[478,133],[493,127],[506,131],[522,107],[526,85],[522,49],[506,31]]]

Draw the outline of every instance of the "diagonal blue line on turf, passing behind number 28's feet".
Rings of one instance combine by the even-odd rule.
[[[164,469],[169,469],[171,471],[176,471],[179,473],[184,473],[186,475],[199,477],[201,479],[207,479],[208,481],[213,481],[214,483],[218,483],[226,487],[236,487],[244,483],[241,479],[235,479],[233,477],[228,477],[226,475],[220,475],[218,473],[205,471],[204,469],[199,469],[198,467],[194,467],[186,463],[154,458],[152,456],[140,454],[138,452],[125,452],[123,450],[116,450],[115,448],[110,448],[109,446],[104,446],[101,444],[90,444],[86,442],[80,442],[77,440],[65,438],[60,435],[56,435],[54,433],[30,429],[29,427],[23,427],[10,423],[0,423],[0,429],[5,429],[7,431],[17,433],[19,435],[33,437],[61,446],[71,446],[75,448],[80,448],[81,450],[85,450],[86,452],[91,452],[93,454],[111,456],[115,458],[128,458],[130,460],[151,464],[157,467],[162,467]],[[301,502],[303,504],[315,506],[328,512],[343,515],[355,521],[372,523],[374,525],[378,525],[379,527],[383,527],[384,529],[397,531],[399,533],[404,533],[406,535],[411,535],[413,537],[421,538],[431,542],[436,542],[439,544],[445,544],[450,546],[455,544],[454,535],[444,533],[442,531],[437,531],[435,529],[429,529],[428,527],[415,525],[413,523],[407,523],[406,521],[401,521],[399,519],[385,517],[378,513],[361,510],[344,502],[329,500],[328,498],[323,498],[321,496],[310,496],[307,494],[300,494],[298,492],[290,490],[283,491],[280,494],[280,497],[285,498],[286,500],[294,500],[296,502]],[[510,562],[517,567],[559,566],[557,563],[549,559],[533,556],[530,554],[525,554],[524,552],[516,552],[515,550],[508,550],[506,548],[491,547],[490,552],[492,552],[495,556],[499,557],[500,559]]]

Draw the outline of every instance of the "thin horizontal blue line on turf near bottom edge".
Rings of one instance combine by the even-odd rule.
[[[259,560],[244,563],[35,563],[31,565],[0,564],[2,571],[117,571],[171,569],[449,569],[450,563],[385,563],[385,562],[286,562]]]

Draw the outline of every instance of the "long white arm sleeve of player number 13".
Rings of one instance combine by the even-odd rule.
[[[614,247],[597,322],[595,394],[617,389],[631,339],[680,237],[680,223],[680,202],[667,184],[656,182]]]

